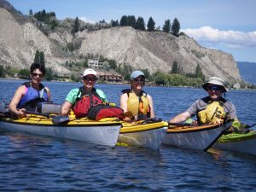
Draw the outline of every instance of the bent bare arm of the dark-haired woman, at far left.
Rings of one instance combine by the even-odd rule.
[[[15,95],[13,96],[11,102],[9,103],[9,111],[11,113],[14,113],[18,117],[26,116],[25,108],[20,108],[19,110],[17,110],[17,105],[19,104],[21,97],[24,95],[25,95],[25,86],[22,85],[15,91]]]

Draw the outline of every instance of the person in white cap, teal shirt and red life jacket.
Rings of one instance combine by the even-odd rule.
[[[67,115],[70,109],[77,118],[85,117],[91,106],[107,102],[107,98],[102,90],[96,89],[95,84],[97,80],[96,71],[93,69],[85,69],[81,75],[83,86],[70,90],[67,94],[66,101],[61,108],[61,114]]]

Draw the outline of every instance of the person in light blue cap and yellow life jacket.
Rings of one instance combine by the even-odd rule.
[[[130,80],[131,88],[122,90],[123,94],[120,96],[120,108],[127,115],[124,120],[137,120],[154,118],[154,107],[152,97],[149,96],[144,90],[145,75],[142,71],[134,71],[131,73]]]

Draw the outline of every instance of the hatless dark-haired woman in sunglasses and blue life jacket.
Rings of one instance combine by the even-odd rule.
[[[21,118],[26,116],[26,110],[37,108],[38,102],[50,102],[51,94],[48,87],[41,84],[44,78],[44,64],[32,63],[30,67],[31,81],[22,84],[9,103],[9,112]]]

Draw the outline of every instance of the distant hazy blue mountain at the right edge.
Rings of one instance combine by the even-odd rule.
[[[256,62],[237,61],[241,79],[248,83],[256,84]]]

